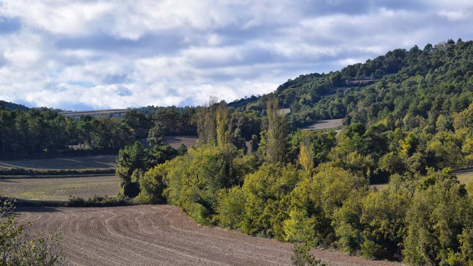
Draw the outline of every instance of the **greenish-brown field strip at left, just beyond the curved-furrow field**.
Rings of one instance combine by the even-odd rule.
[[[89,198],[113,196],[118,191],[118,180],[114,175],[0,180],[0,195],[15,199],[67,200],[69,195]]]

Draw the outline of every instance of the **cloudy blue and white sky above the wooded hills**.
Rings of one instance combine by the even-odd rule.
[[[473,39],[472,0],[0,0],[0,100],[199,105]]]

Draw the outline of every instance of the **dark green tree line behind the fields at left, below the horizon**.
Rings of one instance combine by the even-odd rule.
[[[148,106],[128,109],[122,117],[72,119],[48,108],[9,110],[0,104],[0,159],[117,153],[149,134],[197,135],[199,108]],[[259,135],[261,116],[232,111],[231,119],[240,142]]]

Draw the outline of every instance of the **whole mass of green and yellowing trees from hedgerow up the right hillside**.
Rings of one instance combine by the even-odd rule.
[[[121,194],[281,241],[472,265],[473,183],[453,173],[473,164],[472,64],[473,42],[449,40],[301,76],[239,106],[210,99],[197,111],[195,147],[157,145],[158,165],[138,143],[120,151]],[[278,111],[288,106],[291,114]],[[251,152],[235,114],[260,123]],[[294,130],[323,118],[344,118],[345,128]]]

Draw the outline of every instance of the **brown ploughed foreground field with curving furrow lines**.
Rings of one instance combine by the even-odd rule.
[[[290,265],[292,245],[198,226],[169,205],[104,208],[17,208],[32,233],[61,229],[75,265]],[[333,266],[400,265],[314,250]]]

